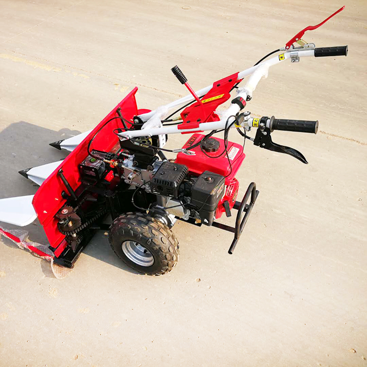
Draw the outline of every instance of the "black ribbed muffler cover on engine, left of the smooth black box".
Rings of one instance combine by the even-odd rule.
[[[163,162],[150,182],[150,189],[155,194],[177,198],[187,171],[184,164]]]

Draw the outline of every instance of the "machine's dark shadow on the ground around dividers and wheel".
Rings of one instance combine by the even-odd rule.
[[[0,146],[5,152],[4,156],[8,158],[5,161],[0,161],[0,175],[3,176],[3,182],[8,184],[1,188],[0,198],[33,195],[39,186],[23,178],[18,171],[65,159],[69,152],[52,148],[49,146],[49,143],[71,138],[78,134],[80,134],[80,131],[77,130],[61,129],[57,132],[25,121],[11,124],[2,130],[0,132]],[[2,227],[6,229],[20,229],[7,223],[2,224]],[[46,235],[38,220],[22,229],[29,232],[31,241],[47,243]],[[20,249],[7,238],[2,238],[2,240],[8,247],[27,251]],[[115,255],[108,242],[108,236],[103,234],[102,231],[94,235],[84,252],[117,268],[138,274],[128,268]],[[46,276],[53,277],[46,260],[41,261],[41,267]]]

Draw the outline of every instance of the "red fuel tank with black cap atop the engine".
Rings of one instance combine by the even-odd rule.
[[[183,148],[189,149],[193,144],[198,143],[205,135],[194,134],[187,140]],[[191,173],[201,175],[204,171],[218,173],[226,177],[226,185],[229,184],[240,168],[245,153],[243,153],[243,146],[231,141],[228,142],[227,151],[228,158],[224,151],[224,140],[214,138],[219,142],[219,149],[216,152],[203,152],[200,145],[190,150],[189,154],[180,152],[177,155],[176,163],[187,166]],[[218,157],[220,156],[220,157]],[[218,157],[218,158],[216,158]]]

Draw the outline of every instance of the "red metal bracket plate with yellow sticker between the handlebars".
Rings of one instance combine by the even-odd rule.
[[[184,109],[181,113],[184,122],[178,125],[178,129],[198,128],[201,122],[219,121],[215,110],[229,99],[230,90],[239,81],[237,78],[238,72],[214,82],[210,91],[201,99],[201,103],[193,103]]]

